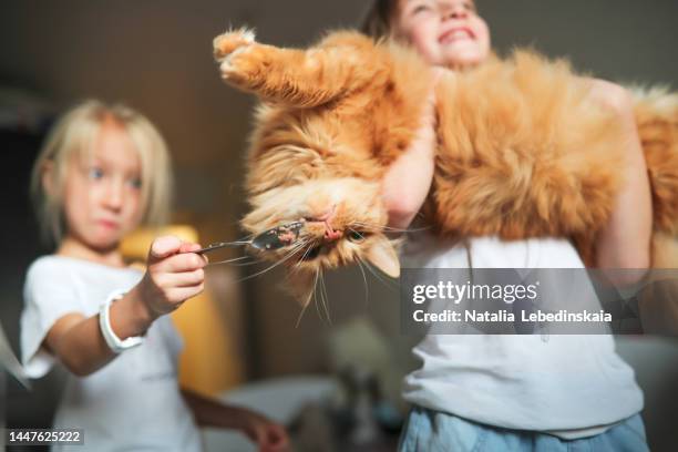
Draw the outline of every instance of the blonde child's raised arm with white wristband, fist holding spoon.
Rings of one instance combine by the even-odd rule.
[[[143,335],[160,316],[203,290],[205,259],[188,253],[195,249],[199,246],[182,244],[175,237],[153,242],[143,279],[111,305],[111,327],[120,339]],[[61,317],[48,331],[44,345],[71,372],[81,377],[116,357],[101,333],[99,316]]]

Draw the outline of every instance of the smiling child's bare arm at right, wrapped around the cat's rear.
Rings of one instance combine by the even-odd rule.
[[[590,80],[592,99],[612,110],[624,124],[626,135],[626,183],[617,195],[613,215],[598,235],[596,266],[602,268],[647,269],[650,265],[653,205],[647,166],[629,93],[622,86]],[[645,271],[627,273],[620,284],[633,284]]]

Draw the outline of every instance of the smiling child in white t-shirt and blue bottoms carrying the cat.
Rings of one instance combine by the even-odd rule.
[[[471,0],[378,0],[366,31],[411,44],[441,71],[472,69],[490,54],[490,30]],[[651,204],[631,101],[620,86],[587,83],[590,96],[626,125],[628,137],[627,183],[598,237],[597,265],[644,269]],[[425,115],[419,140],[383,181],[394,226],[407,227],[429,192],[433,122],[432,113]],[[486,268],[583,267],[564,239],[479,237],[460,246],[420,235],[411,242],[403,258],[418,267],[463,268],[469,261]],[[643,394],[608,336],[429,335],[414,355],[422,366],[405,379],[404,398],[413,409],[401,436],[403,451],[647,450],[638,414]]]

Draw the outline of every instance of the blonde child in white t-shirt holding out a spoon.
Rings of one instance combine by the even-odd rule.
[[[78,451],[198,451],[197,425],[237,429],[261,450],[287,448],[285,430],[245,409],[182,390],[182,340],[166,314],[203,290],[197,244],[155,239],[145,273],[119,245],[163,220],[170,157],[140,113],[86,101],[51,131],[32,174],[45,237],[56,246],[29,268],[22,359],[32,378],[54,362],[70,372],[54,428],[82,429]]]

